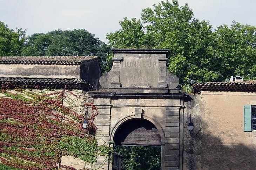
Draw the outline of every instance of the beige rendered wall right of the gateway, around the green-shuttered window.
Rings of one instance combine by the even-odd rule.
[[[191,98],[184,110],[183,169],[254,170],[256,131],[243,132],[243,106],[256,104],[256,92],[201,92]]]

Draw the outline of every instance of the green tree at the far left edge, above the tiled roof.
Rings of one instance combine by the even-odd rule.
[[[20,56],[25,40],[25,31],[9,29],[0,21],[0,56]]]

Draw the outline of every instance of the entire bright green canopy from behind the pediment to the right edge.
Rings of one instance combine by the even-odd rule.
[[[193,82],[225,81],[231,75],[256,77],[256,27],[233,21],[215,31],[193,17],[187,3],[168,0],[142,9],[141,20],[124,18],[121,29],[106,35],[112,48],[170,49],[168,70],[184,89]]]

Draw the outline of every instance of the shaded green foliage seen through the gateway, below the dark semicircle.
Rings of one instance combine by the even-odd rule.
[[[115,146],[114,151],[124,156],[123,170],[161,169],[161,147]]]

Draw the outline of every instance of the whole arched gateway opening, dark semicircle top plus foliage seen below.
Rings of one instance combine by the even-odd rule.
[[[148,120],[124,122],[114,136],[114,152],[122,155],[122,170],[161,170],[161,136]]]

